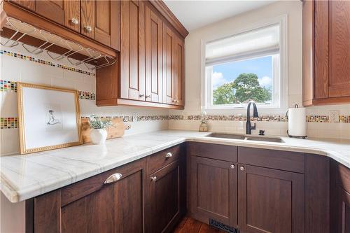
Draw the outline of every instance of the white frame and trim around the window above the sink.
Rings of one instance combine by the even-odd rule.
[[[205,49],[206,44],[211,41],[221,40],[230,36],[235,36],[237,34],[246,33],[248,31],[253,31],[263,27],[269,27],[275,24],[279,24],[279,59],[272,57],[272,76],[273,76],[273,86],[272,88],[278,88],[278,92],[272,90],[272,100],[274,104],[258,104],[259,111],[262,113],[285,113],[287,106],[287,93],[288,93],[288,51],[287,51],[287,38],[288,38],[288,15],[281,15],[279,17],[274,17],[265,22],[251,24],[250,27],[244,27],[244,29],[231,31],[228,35],[220,36],[218,38],[211,38],[210,40],[201,41],[201,58],[202,58],[202,69],[201,69],[201,110],[202,114],[222,114],[222,113],[244,113],[246,111],[247,104],[223,104],[214,105],[212,104],[212,85],[211,77],[212,72],[207,72],[209,67],[206,66],[205,62]],[[228,59],[227,62],[238,62],[246,59],[254,59],[258,57],[265,57],[269,55],[274,55],[272,53],[262,53],[262,54],[252,54],[237,59]],[[279,61],[278,61],[279,60]],[[212,66],[211,66],[212,67]],[[276,78],[277,77],[277,78]],[[276,103],[276,99],[279,98],[279,102]]]

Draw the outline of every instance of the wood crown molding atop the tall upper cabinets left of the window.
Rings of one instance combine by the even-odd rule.
[[[151,0],[150,2],[165,17],[165,19],[172,24],[176,31],[179,31],[179,34],[181,34],[183,38],[186,38],[188,31],[183,27],[183,24],[181,24],[174,13],[172,13],[172,10],[170,10],[162,0]]]

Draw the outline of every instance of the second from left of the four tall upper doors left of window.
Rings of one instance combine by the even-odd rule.
[[[148,6],[146,16],[146,101],[162,103],[162,20]]]

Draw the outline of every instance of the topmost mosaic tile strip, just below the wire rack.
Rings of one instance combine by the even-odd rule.
[[[71,67],[71,66],[65,66],[65,65],[62,65],[62,64],[55,64],[53,62],[45,61],[43,59],[37,59],[35,57],[22,55],[22,54],[20,54],[18,52],[10,52],[10,51],[7,51],[7,50],[0,50],[0,55],[8,55],[10,57],[17,57],[19,59],[28,60],[30,62],[36,62],[36,63],[39,63],[39,64],[45,64],[45,65],[48,65],[48,66],[55,66],[55,67],[58,67],[58,68],[61,68],[61,69],[66,69],[66,70],[77,72],[77,73],[83,73],[83,74],[86,74],[88,76],[94,76],[94,73],[89,72],[89,71],[84,71],[82,69],[78,69],[78,68]]]

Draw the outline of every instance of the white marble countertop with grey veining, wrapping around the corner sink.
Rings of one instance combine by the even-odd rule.
[[[281,137],[284,143],[272,143],[206,137],[208,134],[162,130],[111,139],[105,145],[85,144],[29,155],[1,156],[1,192],[10,202],[20,202],[185,141],[314,153],[332,157],[350,168],[350,140],[346,139]]]

